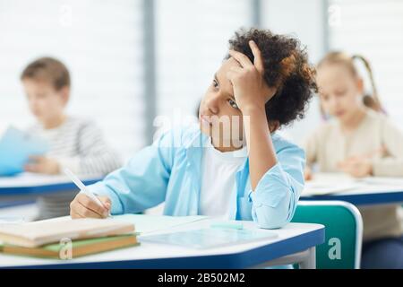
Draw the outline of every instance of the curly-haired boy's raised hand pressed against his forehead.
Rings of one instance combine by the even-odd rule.
[[[236,104],[241,111],[246,109],[264,109],[264,105],[276,93],[276,89],[269,87],[264,81],[264,66],[262,54],[252,40],[249,46],[253,52],[253,63],[244,54],[230,50],[229,55],[238,63],[227,72],[227,79],[232,83]]]

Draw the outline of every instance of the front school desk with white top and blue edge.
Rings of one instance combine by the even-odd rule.
[[[209,227],[210,218],[171,228],[181,231]],[[245,229],[256,229],[254,222],[241,222]],[[298,263],[315,268],[315,247],[324,242],[324,226],[288,223],[271,230],[272,239],[246,242],[221,248],[194,249],[141,241],[156,231],[139,236],[140,246],[123,248],[70,260],[17,257],[0,253],[0,267],[9,268],[260,268]]]

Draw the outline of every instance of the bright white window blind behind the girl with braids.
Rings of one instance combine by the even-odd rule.
[[[403,1],[330,0],[335,24],[330,48],[364,56],[371,64],[379,97],[391,120],[403,128]],[[372,93],[364,65],[356,62],[365,91]]]

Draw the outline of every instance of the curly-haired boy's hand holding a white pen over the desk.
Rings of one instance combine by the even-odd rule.
[[[79,193],[70,204],[70,216],[76,218],[107,218],[111,201],[107,196],[97,196],[104,206],[99,206],[89,196]]]

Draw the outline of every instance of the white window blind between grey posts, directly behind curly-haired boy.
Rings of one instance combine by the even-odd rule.
[[[253,23],[250,0],[156,0],[157,115],[176,125],[195,116],[227,54],[228,39]]]

